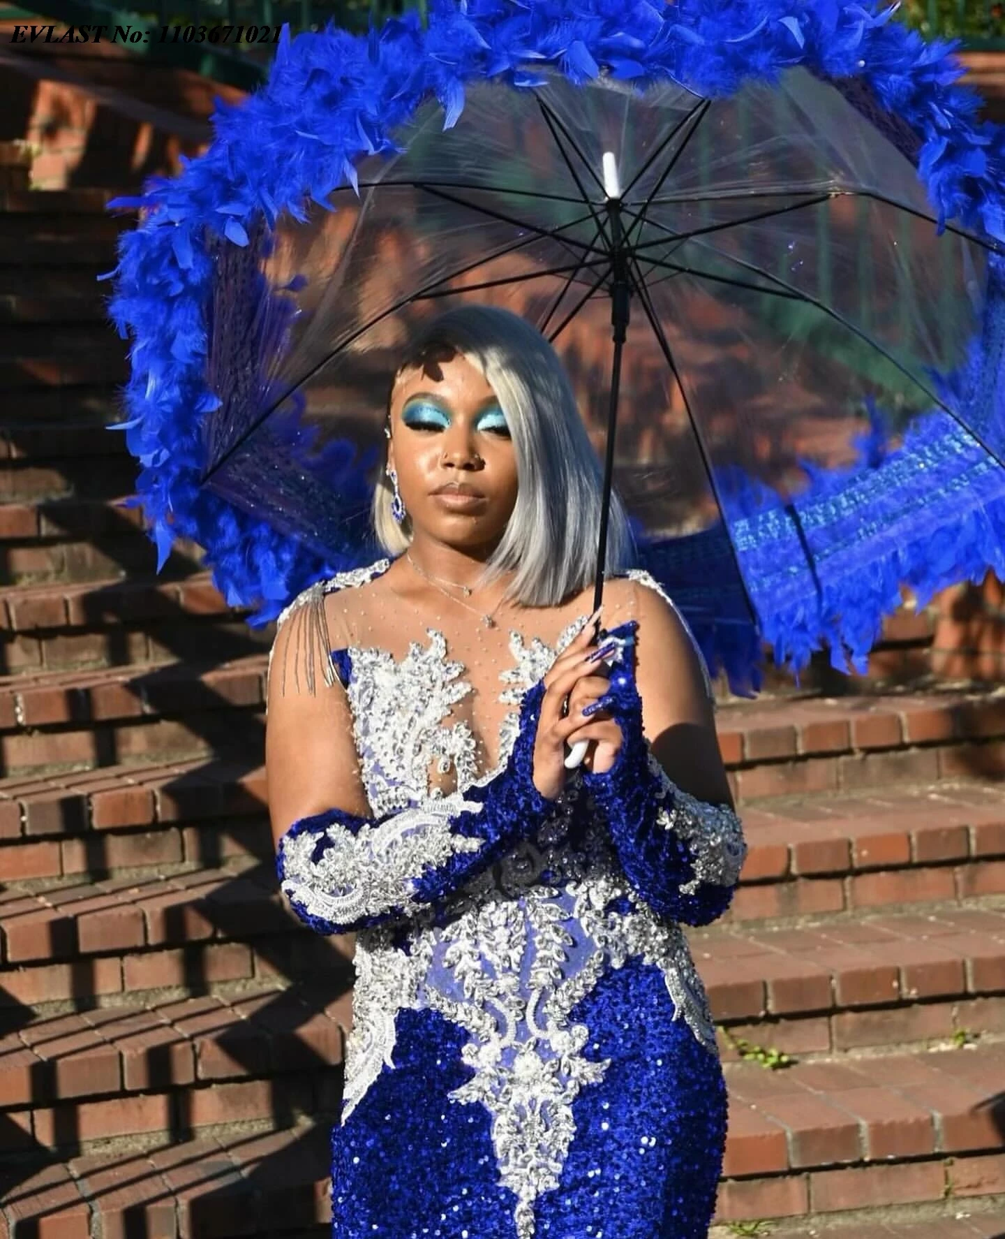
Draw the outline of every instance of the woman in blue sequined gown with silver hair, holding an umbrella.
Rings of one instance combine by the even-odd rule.
[[[282,890],[358,933],[333,1233],[703,1237],[727,1097],[679,922],[745,855],[704,664],[618,503],[590,644],[600,466],[521,318],[436,321],[385,432],[389,558],[270,655]]]

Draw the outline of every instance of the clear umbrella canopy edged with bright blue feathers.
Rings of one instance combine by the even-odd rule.
[[[902,582],[1001,561],[1005,142],[944,51],[859,6],[577,14],[285,36],[147,187],[111,309],[161,559],[194,536],[260,622],[374,559],[396,357],[488,301],[558,348],[713,667],[750,683],[760,636],[843,665]]]

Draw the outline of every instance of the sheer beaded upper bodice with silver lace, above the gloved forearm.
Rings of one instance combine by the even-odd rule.
[[[374,720],[380,720],[382,748],[397,767],[399,787],[405,774],[413,793],[448,795],[490,777],[512,747],[524,693],[577,637],[593,607],[592,589],[558,607],[504,603],[490,627],[449,597],[434,593],[429,606],[427,590],[417,600],[408,591],[413,584],[408,571],[403,564],[400,567],[391,571],[390,560],[379,560],[354,574],[358,584],[350,589],[344,575],[337,589],[318,582],[308,600],[318,631],[291,641],[277,669],[300,683],[318,674],[323,650],[349,654],[358,674],[348,694],[374,812],[406,803],[403,790],[401,799],[389,794],[384,784],[391,771],[386,762],[380,767],[375,746],[366,743],[376,730]],[[603,616],[608,627],[635,615],[637,589],[634,575],[609,582]],[[335,675],[345,683],[337,658],[329,678]],[[394,755],[389,746],[396,748]]]

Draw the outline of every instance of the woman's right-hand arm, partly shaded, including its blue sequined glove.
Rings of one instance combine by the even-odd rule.
[[[708,924],[731,901],[746,844],[701,655],[652,579],[640,581],[637,628],[611,673],[608,706],[624,742],[610,771],[587,772],[583,784],[639,895],[660,916]]]

